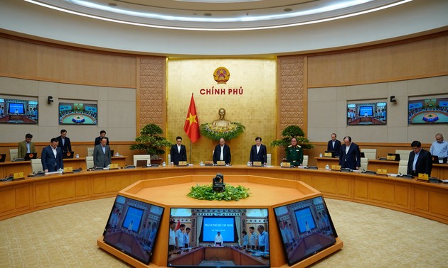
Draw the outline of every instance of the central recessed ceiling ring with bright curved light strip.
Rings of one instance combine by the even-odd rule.
[[[50,9],[137,26],[254,30],[331,21],[412,0],[25,0]]]

